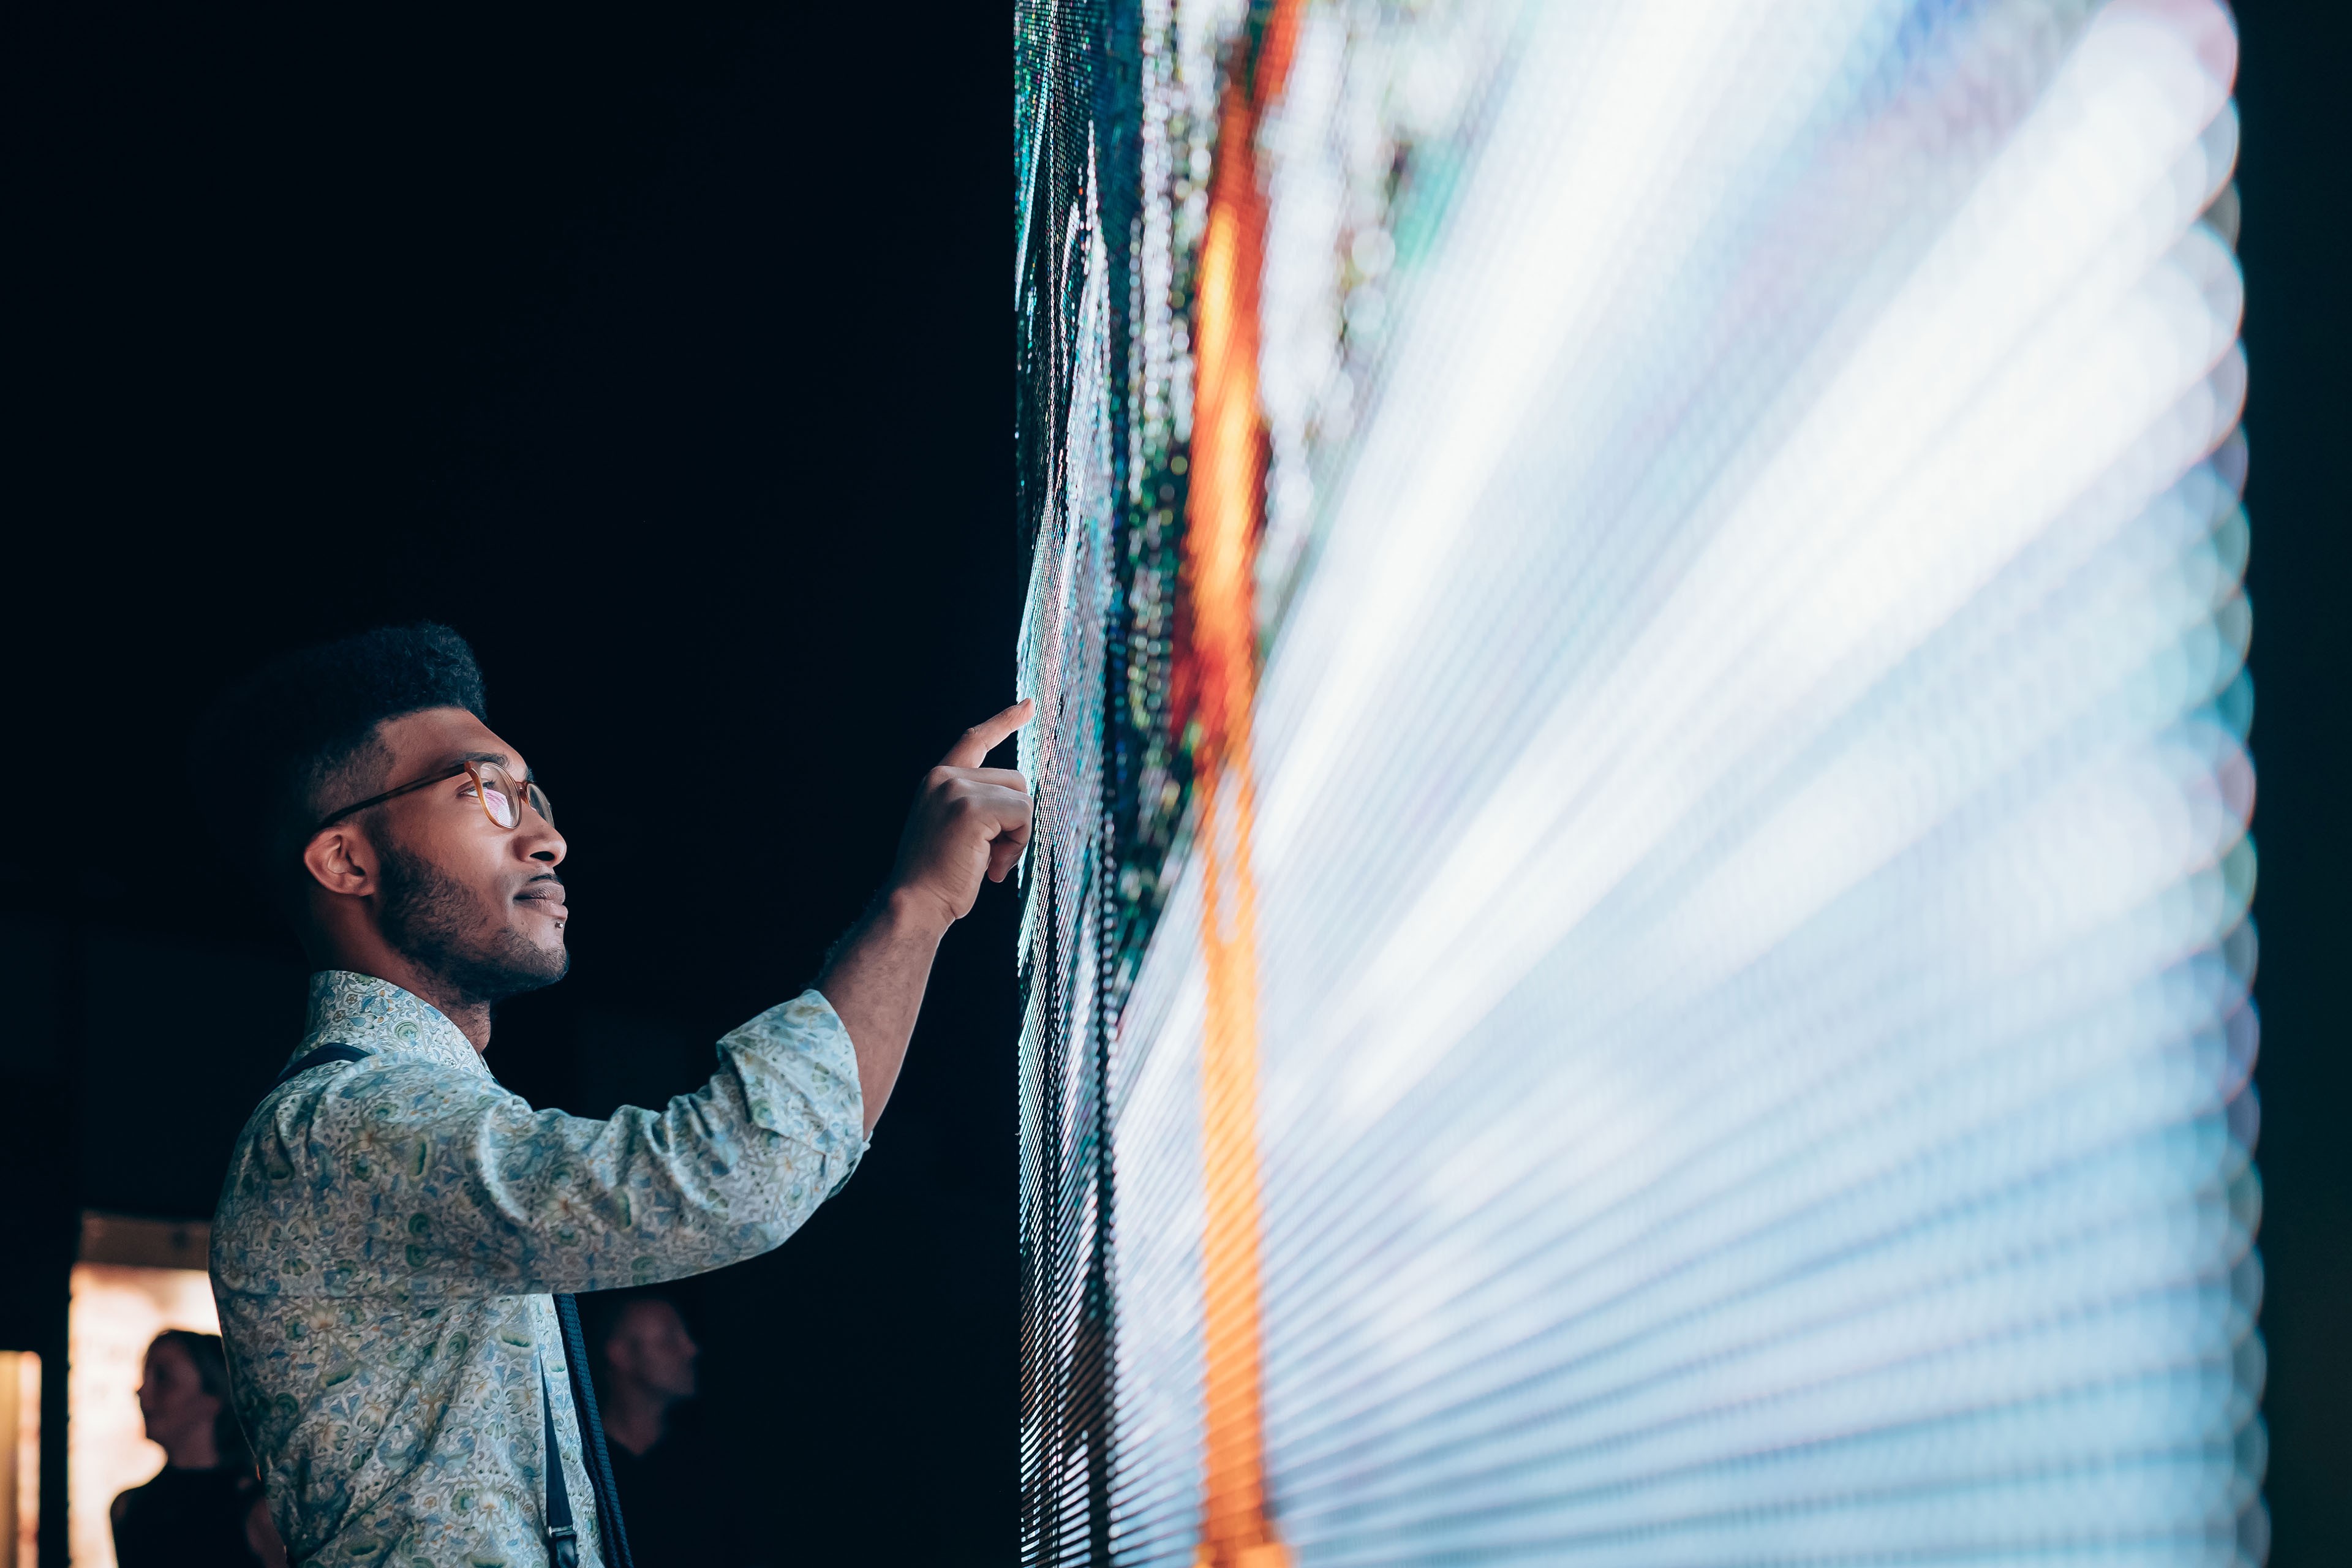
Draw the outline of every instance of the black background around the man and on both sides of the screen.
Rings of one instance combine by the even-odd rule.
[[[532,1100],[687,1088],[814,973],[922,766],[1011,689],[1007,21],[12,12],[0,1342],[61,1352],[80,1208],[209,1213],[294,1039],[299,954],[179,799],[193,712],[278,649],[416,616],[480,649],[572,839],[574,976],[492,1051]],[[2300,1566],[2352,1561],[2352,38],[2324,5],[2241,26]],[[790,1561],[1011,1556],[1014,912],[948,940],[842,1199],[689,1291],[701,1422]]]

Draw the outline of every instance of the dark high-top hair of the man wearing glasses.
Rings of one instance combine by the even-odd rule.
[[[489,698],[473,649],[447,625],[381,625],[282,654],[205,712],[191,771],[228,858],[273,900],[296,898],[296,856],[329,809],[327,792],[381,762],[386,719]]]

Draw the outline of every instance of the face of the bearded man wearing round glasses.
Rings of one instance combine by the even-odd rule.
[[[383,724],[390,766],[379,788],[496,762],[527,780],[522,752],[463,708],[428,708]],[[369,790],[374,792],[374,790]],[[376,924],[383,938],[466,1001],[499,1001],[564,978],[564,839],[529,804],[520,827],[499,827],[468,773],[369,806],[379,856]]]

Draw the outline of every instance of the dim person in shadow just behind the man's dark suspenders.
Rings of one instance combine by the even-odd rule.
[[[604,1305],[593,1328],[604,1441],[637,1561],[644,1568],[743,1568],[755,1542],[746,1530],[734,1467],[670,1427],[673,1408],[694,1399],[694,1363],[701,1356],[687,1319],[668,1298],[628,1295]],[[771,1497],[757,1507],[776,1516]]]

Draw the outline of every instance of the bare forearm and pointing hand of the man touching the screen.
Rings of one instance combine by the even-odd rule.
[[[1035,703],[1023,698],[974,724],[924,776],[898,837],[889,886],[816,978],[816,990],[840,1013],[858,1053],[868,1133],[898,1081],[938,938],[971,912],[981,877],[1004,882],[1028,844],[1028,780],[1014,769],[981,764],[1028,724],[1030,712]]]

